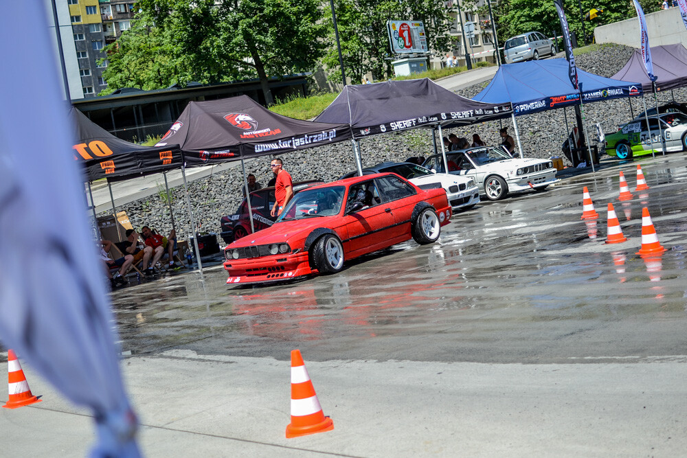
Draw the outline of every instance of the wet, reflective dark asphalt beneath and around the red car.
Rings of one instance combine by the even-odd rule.
[[[634,192],[636,164],[651,187]],[[436,244],[412,240],[341,273],[227,286],[221,255],[115,290],[126,355],[191,350],[288,360],[639,362],[687,354],[687,161],[669,154],[561,180],[455,214]],[[618,172],[633,193],[621,202]],[[581,220],[583,186],[598,211]],[[605,244],[613,203],[627,242]],[[667,251],[640,249],[647,207]]]

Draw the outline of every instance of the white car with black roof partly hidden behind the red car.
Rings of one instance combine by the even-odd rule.
[[[422,165],[410,162],[383,162],[372,167],[364,168],[363,174],[395,173],[403,176],[421,190],[431,190],[443,187],[453,211],[469,209],[480,203],[480,188],[471,176],[456,176],[446,173],[433,173]],[[341,179],[356,176],[358,172],[350,172]]]

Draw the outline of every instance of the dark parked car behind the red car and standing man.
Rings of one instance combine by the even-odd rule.
[[[307,187],[319,185],[323,181],[300,181],[293,183],[293,193],[304,190]],[[274,186],[263,187],[260,190],[251,192],[251,211],[253,213],[253,227],[256,231],[273,225],[275,216],[271,216],[272,205],[274,205]],[[223,216],[220,219],[222,231],[220,236],[225,243],[232,243],[234,240],[247,236],[251,233],[251,220],[248,214],[248,201],[243,201],[238,205],[236,213]]]

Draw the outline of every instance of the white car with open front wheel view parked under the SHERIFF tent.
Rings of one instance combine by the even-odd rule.
[[[469,148],[446,153],[449,173],[471,176],[491,201],[511,192],[544,190],[556,183],[556,169],[548,159],[514,159],[508,153],[491,146]],[[444,172],[444,159],[434,154],[423,163],[425,168]]]

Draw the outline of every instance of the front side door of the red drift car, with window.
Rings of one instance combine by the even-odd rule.
[[[365,197],[359,198],[360,195]],[[363,201],[365,207],[353,211],[352,205],[357,201]],[[387,246],[385,242],[394,230],[394,215],[386,205],[382,205],[374,180],[350,185],[343,223],[348,229],[348,240],[344,243],[348,245],[345,248],[349,258]]]

